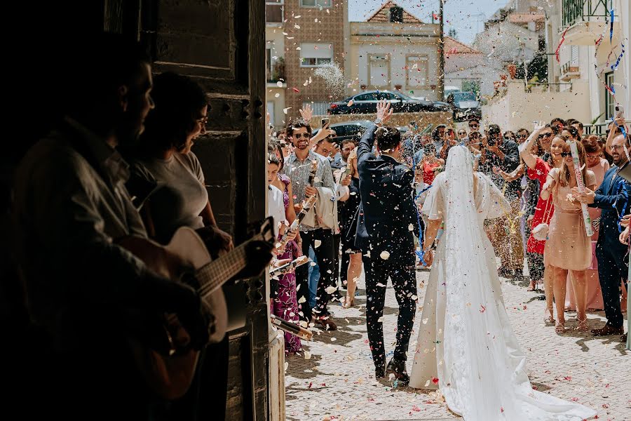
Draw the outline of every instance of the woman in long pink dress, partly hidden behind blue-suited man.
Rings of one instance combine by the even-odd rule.
[[[604,173],[609,170],[609,162],[602,158],[602,147],[598,143],[597,135],[590,135],[587,138],[583,138],[581,143],[583,143],[585,154],[587,154],[587,166],[596,176],[596,185],[599,186],[604,179]],[[592,235],[592,265],[585,271],[585,278],[587,280],[587,311],[596,312],[597,310],[604,309],[602,291],[600,290],[600,281],[598,279],[598,262],[595,254],[596,241],[598,241],[598,220],[601,210],[599,208],[588,209],[595,229],[594,235]],[[570,276],[568,276],[567,288],[569,293],[565,300],[565,309],[574,312],[576,311],[576,300],[574,299],[574,290],[570,288],[570,286],[571,279]]]

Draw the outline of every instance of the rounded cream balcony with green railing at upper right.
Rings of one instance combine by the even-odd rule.
[[[609,25],[609,8],[606,0],[563,0],[561,32],[565,32],[565,44],[593,46]],[[618,17],[613,22],[613,32],[620,31]]]

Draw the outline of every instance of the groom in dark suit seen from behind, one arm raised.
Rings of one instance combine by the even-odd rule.
[[[381,126],[392,115],[390,104],[377,105],[375,125],[364,133],[358,146],[358,171],[362,201],[355,246],[362,250],[366,274],[366,323],[375,377],[393,373],[407,385],[407,347],[416,310],[414,234],[419,235],[412,197],[414,171],[399,162],[401,133]],[[371,149],[376,138],[379,157]],[[386,283],[391,279],[399,303],[397,345],[386,368],[384,314]]]

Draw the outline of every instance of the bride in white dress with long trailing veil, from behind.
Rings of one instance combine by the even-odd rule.
[[[532,389],[525,356],[508,321],[484,220],[510,204],[494,183],[473,172],[466,147],[452,147],[423,206],[426,245],[440,220],[445,234],[432,265],[409,382],[439,389],[466,421],[580,421],[596,412]]]

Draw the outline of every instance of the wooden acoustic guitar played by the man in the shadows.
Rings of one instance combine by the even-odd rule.
[[[224,338],[228,326],[226,300],[221,287],[247,266],[246,247],[250,242],[273,244],[272,223],[272,218],[267,218],[252,239],[216,260],[212,260],[201,237],[189,227],[179,228],[166,246],[138,236],[125,237],[118,244],[149,269],[170,279],[179,281],[186,270],[195,270],[198,293],[213,316],[209,342],[216,343]],[[162,335],[149,341],[130,335],[130,345],[149,387],[164,399],[177,399],[191,385],[199,352],[188,346],[191,337],[177,314],[158,314],[155,321],[148,329],[155,328]]]

